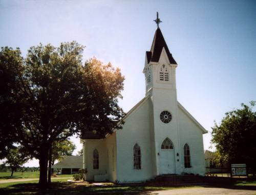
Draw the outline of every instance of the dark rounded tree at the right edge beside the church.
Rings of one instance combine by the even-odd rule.
[[[242,104],[241,109],[225,114],[221,124],[212,127],[212,140],[219,161],[227,163],[246,163],[248,167],[256,165],[256,112],[250,106]]]

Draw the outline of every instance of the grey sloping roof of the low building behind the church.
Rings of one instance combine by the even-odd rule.
[[[82,156],[62,156],[62,160],[52,168],[82,168]]]

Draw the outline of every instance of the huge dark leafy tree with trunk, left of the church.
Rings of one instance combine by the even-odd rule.
[[[42,187],[53,142],[80,130],[111,133],[124,116],[117,104],[124,80],[120,70],[96,59],[82,65],[82,52],[76,42],[32,46],[25,59],[18,48],[2,47],[0,52],[2,75],[12,81],[3,80],[10,90],[1,91],[6,101],[0,106],[4,102],[10,117],[8,125],[0,118],[0,131],[12,133],[14,141],[39,159]]]

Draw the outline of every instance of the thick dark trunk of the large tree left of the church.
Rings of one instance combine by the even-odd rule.
[[[39,187],[45,188],[47,186],[47,165],[48,165],[48,150],[42,150],[39,158],[40,176]]]

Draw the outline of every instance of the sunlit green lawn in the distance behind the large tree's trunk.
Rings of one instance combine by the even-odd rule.
[[[73,175],[58,175],[58,177],[73,177]],[[14,172],[11,177],[11,172],[0,172],[0,180],[6,179],[29,179],[39,178],[39,172]]]

